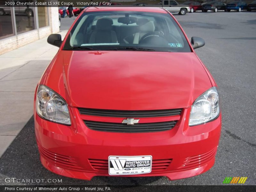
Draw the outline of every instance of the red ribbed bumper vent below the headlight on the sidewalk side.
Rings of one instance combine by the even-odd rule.
[[[71,169],[74,171],[84,171],[84,169],[77,164],[76,159],[73,157],[52,153],[40,145],[38,145],[38,149],[41,156],[57,167]]]

